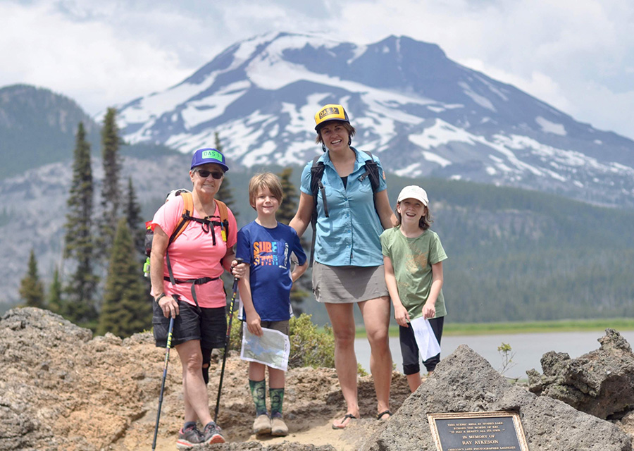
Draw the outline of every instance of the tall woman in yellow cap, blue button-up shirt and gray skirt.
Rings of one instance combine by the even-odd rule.
[[[297,214],[290,226],[302,236],[317,210],[313,293],[328,311],[335,335],[335,367],[347,404],[346,414],[332,428],[345,428],[359,418],[354,354],[353,306],[359,305],[371,346],[370,371],[377,397],[377,418],[390,417],[392,354],[387,328],[390,324],[390,297],[383,275],[383,255],[379,236],[392,228],[394,214],[387,198],[385,174],[375,156],[351,147],[354,127],[341,105],[325,105],[315,115],[316,142],[322,144],[323,163],[317,205],[311,192],[309,161],[302,172]],[[328,150],[326,149],[328,148]],[[376,192],[367,176],[365,162],[378,164]],[[323,194],[325,193],[325,204]],[[328,214],[326,214],[328,211]]]

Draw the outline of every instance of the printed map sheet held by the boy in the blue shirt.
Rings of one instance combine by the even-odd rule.
[[[279,330],[262,328],[263,335],[259,337],[250,333],[247,324],[243,324],[240,359],[287,371],[290,354],[288,335]]]

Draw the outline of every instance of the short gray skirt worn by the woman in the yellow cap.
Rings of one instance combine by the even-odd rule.
[[[328,266],[313,264],[313,294],[317,302],[350,304],[389,296],[383,265]]]

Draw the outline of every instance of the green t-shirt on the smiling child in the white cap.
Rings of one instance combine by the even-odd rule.
[[[399,297],[409,318],[422,316],[433,280],[431,267],[447,259],[437,233],[428,229],[416,238],[408,238],[399,227],[390,228],[381,234],[381,250],[385,257],[392,260]],[[447,314],[442,290],[436,299],[435,308],[435,318]]]

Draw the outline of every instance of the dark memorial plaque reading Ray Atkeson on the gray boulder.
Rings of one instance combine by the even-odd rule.
[[[428,414],[438,451],[528,451],[517,412]]]

